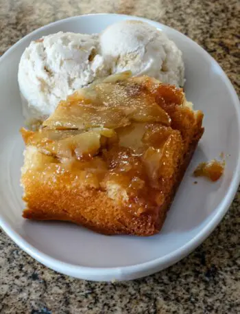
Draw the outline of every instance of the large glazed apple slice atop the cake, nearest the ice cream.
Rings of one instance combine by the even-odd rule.
[[[119,128],[131,122],[158,122],[169,126],[171,119],[143,83],[136,84],[132,78],[124,76],[117,82],[104,80],[88,89],[80,89],[61,101],[43,126]]]

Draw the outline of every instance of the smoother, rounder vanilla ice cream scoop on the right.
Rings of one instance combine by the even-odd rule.
[[[184,85],[182,52],[163,32],[141,21],[121,21],[101,33],[101,55],[112,58],[112,74],[130,70],[162,82]]]

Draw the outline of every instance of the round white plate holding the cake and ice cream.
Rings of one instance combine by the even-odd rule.
[[[19,186],[23,164],[23,126],[17,69],[30,41],[58,32],[101,32],[112,23],[139,19],[159,27],[184,55],[187,99],[204,114],[206,131],[184,176],[165,225],[156,236],[104,236],[71,223],[34,222],[21,217]],[[239,101],[221,67],[204,49],[176,30],[159,23],[117,14],[76,16],[32,32],[0,60],[0,224],[5,232],[39,262],[77,278],[129,280],[147,276],[177,262],[200,245],[224,216],[240,176]],[[224,177],[217,183],[191,176],[200,161],[226,157]]]

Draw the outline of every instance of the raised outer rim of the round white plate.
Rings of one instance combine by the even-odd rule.
[[[4,62],[5,58],[8,57],[9,54],[11,54],[14,49],[16,49],[22,41],[25,41],[27,38],[34,36],[34,34],[37,34],[41,30],[45,30],[46,27],[49,27],[51,25],[58,25],[61,24],[62,21],[67,20],[74,20],[74,19],[82,19],[86,16],[92,16],[93,19],[95,16],[116,16],[123,19],[136,19],[139,21],[145,21],[147,23],[154,23],[156,27],[163,27],[165,29],[171,30],[176,32],[180,36],[184,36],[184,38],[187,40],[187,42],[191,42],[192,45],[196,45],[197,49],[200,49],[202,54],[205,54],[208,56],[208,58],[211,58],[211,61],[217,65],[219,68],[219,71],[221,72],[221,76],[224,77],[224,82],[226,83],[226,86],[228,90],[230,91],[230,94],[232,96],[232,101],[234,102],[236,115],[237,115],[237,122],[238,122],[238,128],[240,133],[240,106],[239,106],[239,98],[237,96],[237,93],[232,86],[232,83],[230,82],[228,76],[225,74],[224,70],[221,68],[219,63],[210,55],[208,52],[206,52],[200,45],[198,45],[195,41],[193,41],[188,36],[182,34],[178,30],[173,29],[172,27],[169,27],[167,25],[164,25],[162,23],[159,23],[157,21],[152,21],[149,19],[145,19],[143,17],[139,16],[132,16],[127,14],[111,14],[111,13],[97,13],[97,14],[82,14],[78,16],[70,16],[66,19],[61,19],[59,21],[55,21],[52,23],[49,23],[47,25],[43,25],[42,27],[39,27],[38,29],[34,30],[33,32],[30,32],[23,38],[21,38],[19,41],[17,41],[12,47],[10,47],[0,58],[0,64]],[[128,266],[121,266],[121,267],[88,267],[88,266],[80,266],[71,264],[69,262],[62,262],[61,260],[58,260],[57,258],[53,258],[49,256],[48,254],[43,253],[43,251],[40,251],[36,249],[33,245],[30,245],[27,240],[25,240],[22,236],[20,236],[14,229],[11,227],[11,225],[5,221],[5,219],[0,214],[0,227],[3,229],[3,231],[10,236],[10,238],[18,245],[23,251],[25,251],[29,256],[32,256],[32,258],[38,260],[43,265],[46,265],[50,269],[53,269],[55,271],[58,271],[60,273],[67,274],[69,276],[73,276],[75,278],[82,278],[87,280],[97,280],[97,281],[109,281],[109,280],[128,280],[128,279],[135,279],[135,278],[141,278],[143,276],[147,276],[151,273],[154,273],[156,271],[160,271],[162,269],[165,269],[188,254],[193,251],[198,245],[200,245],[217,227],[217,225],[220,223],[221,219],[224,217],[226,212],[228,211],[228,208],[230,207],[230,204],[232,203],[232,200],[235,197],[235,194],[237,192],[237,189],[239,187],[239,181],[240,181],[240,153],[237,159],[237,167],[235,169],[235,174],[232,177],[232,181],[230,183],[230,186],[228,188],[228,192],[226,192],[226,195],[224,198],[220,201],[219,205],[215,208],[216,213],[211,218],[211,221],[208,221],[204,228],[198,232],[189,242],[184,244],[182,247],[179,247],[175,251],[162,256],[160,258],[156,258],[154,260],[150,260],[147,262],[143,262],[140,264],[135,265],[128,265]],[[1,213],[1,212],[0,212]]]

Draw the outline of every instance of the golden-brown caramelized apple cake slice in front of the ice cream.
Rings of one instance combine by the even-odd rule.
[[[160,231],[204,129],[182,89],[129,73],[60,102],[38,131],[22,129],[23,217],[103,234]]]

